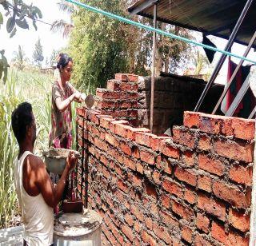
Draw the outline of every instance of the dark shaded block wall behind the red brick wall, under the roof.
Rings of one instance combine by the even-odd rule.
[[[156,77],[154,85],[154,133],[162,134],[172,125],[182,125],[183,112],[194,110],[206,81],[186,76],[168,74]],[[150,125],[151,77],[138,81],[138,124]],[[211,113],[223,91],[223,85],[213,85],[200,108]]]

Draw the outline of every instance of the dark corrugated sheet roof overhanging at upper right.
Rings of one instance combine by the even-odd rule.
[[[226,39],[246,5],[246,0],[138,0],[128,11],[154,18],[155,2],[158,2],[158,21]],[[256,31],[255,16],[256,1],[251,4],[235,42],[248,45]]]

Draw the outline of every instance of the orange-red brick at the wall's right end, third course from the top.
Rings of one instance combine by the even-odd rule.
[[[230,180],[243,185],[252,185],[253,169],[252,167],[243,167],[242,165],[234,165],[230,168]]]

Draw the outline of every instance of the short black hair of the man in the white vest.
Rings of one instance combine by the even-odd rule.
[[[22,102],[11,114],[11,126],[18,144],[21,144],[26,137],[26,126],[33,122],[32,106],[28,102]]]

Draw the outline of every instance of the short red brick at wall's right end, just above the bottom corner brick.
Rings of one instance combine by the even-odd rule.
[[[243,212],[237,212],[230,208],[229,222],[241,232],[247,232],[250,230],[250,216]]]

